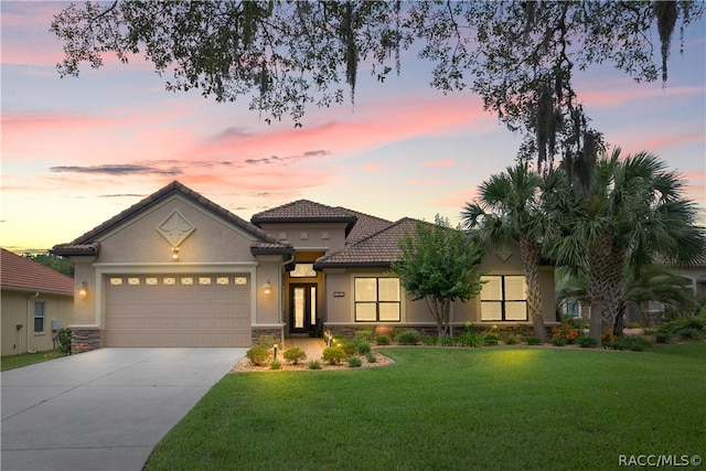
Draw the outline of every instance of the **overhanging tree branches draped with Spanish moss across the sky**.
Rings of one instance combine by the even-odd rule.
[[[635,81],[667,78],[673,32],[702,18],[694,1],[164,1],[71,4],[51,25],[62,75],[143,54],[169,90],[250,99],[266,119],[353,99],[360,64],[384,81],[415,47],[431,86],[470,88],[513,131],[522,154],[556,156],[579,185],[603,146],[574,88],[577,71],[612,63]],[[655,44],[660,43],[660,52]],[[656,60],[655,56],[660,56]],[[657,64],[659,63],[659,64]],[[661,72],[661,74],[660,74]],[[345,85],[343,85],[345,84]]]

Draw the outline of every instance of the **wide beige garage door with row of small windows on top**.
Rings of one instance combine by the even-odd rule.
[[[249,346],[247,275],[106,279],[106,346]]]

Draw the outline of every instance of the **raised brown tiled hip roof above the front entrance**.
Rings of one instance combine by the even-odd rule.
[[[342,207],[327,206],[309,200],[298,200],[254,214],[250,221],[258,226],[264,223],[345,223],[345,235],[347,236],[355,225],[357,216]]]

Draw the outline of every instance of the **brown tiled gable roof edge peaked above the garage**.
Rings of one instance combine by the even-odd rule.
[[[253,235],[257,240],[253,243],[252,248],[259,250],[260,254],[279,253],[281,250],[291,250],[291,253],[293,254],[293,248],[291,247],[290,244],[279,242],[277,238],[267,234],[265,231],[257,227],[255,224],[249,223],[243,220],[242,217],[236,216],[235,214],[231,213],[226,208],[215,204],[214,202],[206,199],[202,194],[189,189],[188,186],[185,186],[184,184],[178,181],[171,182],[170,184],[157,191],[156,193],[152,193],[151,195],[147,196],[145,200],[140,201],[139,203],[128,207],[120,214],[111,217],[110,220],[106,221],[99,226],[88,231],[86,234],[82,235],[81,237],[71,242],[69,244],[58,244],[54,246],[54,248],[52,249],[52,253],[56,255],[63,255],[63,256],[96,255],[100,250],[100,245],[97,242],[97,239],[101,235],[124,224],[127,220],[131,218],[132,216],[140,213],[145,208],[152,206],[159,203],[160,201],[163,201],[164,199],[170,197],[174,194],[181,194],[182,196],[186,197],[188,200],[191,200],[192,202],[203,207],[204,210],[221,216],[222,218],[228,221],[229,223],[234,224],[235,226],[239,227],[246,233],[249,233],[250,235]],[[267,251],[269,249],[274,251]]]

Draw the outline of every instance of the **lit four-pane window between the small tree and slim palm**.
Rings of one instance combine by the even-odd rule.
[[[481,321],[527,320],[527,287],[521,275],[481,277]]]

